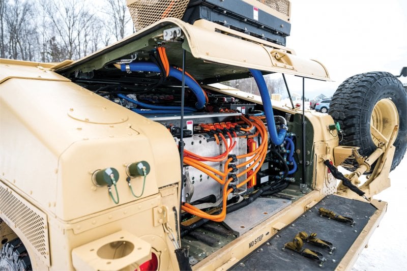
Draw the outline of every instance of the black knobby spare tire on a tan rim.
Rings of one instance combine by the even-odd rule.
[[[389,139],[398,125],[391,170],[400,163],[407,148],[407,93],[394,75],[369,72],[347,78],[334,93],[328,113],[341,126],[340,144],[360,147],[364,157],[377,148],[381,135]],[[358,167],[351,159],[344,163],[353,170]]]

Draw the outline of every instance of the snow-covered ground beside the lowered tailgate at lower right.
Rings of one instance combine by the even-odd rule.
[[[407,270],[407,157],[390,172],[391,187],[374,196],[387,213],[352,270]]]

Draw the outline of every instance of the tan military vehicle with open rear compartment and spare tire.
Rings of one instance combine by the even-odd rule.
[[[405,153],[400,81],[300,110],[263,77],[330,80],[285,47],[289,1],[128,6],[139,31],[78,61],[1,59],[0,269],[351,267]]]

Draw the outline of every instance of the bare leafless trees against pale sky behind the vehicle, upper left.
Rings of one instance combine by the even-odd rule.
[[[0,57],[42,62],[77,59],[134,32],[125,0],[0,0],[0,24]]]

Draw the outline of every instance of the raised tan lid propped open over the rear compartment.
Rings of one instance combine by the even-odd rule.
[[[164,30],[173,27],[180,27],[183,38],[165,41]],[[169,63],[173,66],[182,66],[180,48],[186,49],[188,73],[201,83],[247,78],[251,76],[248,68],[330,80],[321,63],[301,58],[292,49],[209,21],[198,20],[191,25],[174,18],[152,24],[122,41],[58,68],[56,72],[69,78],[111,75],[110,64],[132,59],[135,55],[135,61],[146,60],[158,44],[165,46]]]

